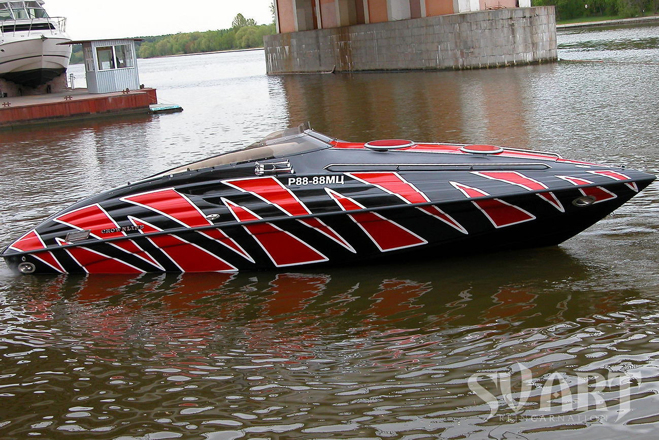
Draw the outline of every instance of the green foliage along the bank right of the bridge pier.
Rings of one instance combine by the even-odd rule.
[[[532,0],[533,6],[556,6],[556,19],[618,15],[656,15],[659,0]]]

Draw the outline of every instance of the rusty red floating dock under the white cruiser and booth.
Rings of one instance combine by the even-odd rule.
[[[90,94],[86,88],[79,88],[45,95],[0,98],[0,129],[105,115],[149,113],[156,104],[155,88],[100,94]],[[168,110],[183,110],[176,107],[178,110]]]

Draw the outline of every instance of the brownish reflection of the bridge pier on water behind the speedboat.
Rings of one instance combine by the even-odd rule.
[[[509,70],[284,75],[289,125],[347,141],[415,141],[529,147],[523,78]],[[371,133],[364,137],[364,133]]]

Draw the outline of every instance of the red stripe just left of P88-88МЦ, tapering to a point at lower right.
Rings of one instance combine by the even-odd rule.
[[[287,216],[305,216],[310,215],[311,211],[298,197],[285,187],[279,180],[274,177],[248,177],[246,179],[229,179],[223,180],[222,183],[229,185],[244,193],[250,193],[261,199],[262,201],[272,204],[279,208]],[[341,246],[345,247],[351,252],[355,249],[343,237],[339,236],[332,228],[324,224],[317,218],[308,218],[299,220],[306,226],[318,230],[318,232],[333,239]]]

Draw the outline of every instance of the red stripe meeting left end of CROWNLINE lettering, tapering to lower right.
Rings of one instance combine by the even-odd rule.
[[[126,237],[127,234],[121,231],[119,224],[107,213],[105,209],[101,207],[100,204],[92,204],[90,206],[84,206],[76,210],[62,214],[61,216],[55,218],[55,222],[71,226],[71,228],[77,230],[90,230],[90,236],[98,239],[107,239],[107,238],[117,238],[117,237]],[[103,234],[103,230],[109,231]],[[114,241],[108,243],[121,249],[127,253],[133,254],[136,257],[146,261],[150,265],[154,265],[159,269],[162,267],[159,265],[151,255],[144,252],[144,249],[139,247],[134,241],[127,239],[121,241]]]

